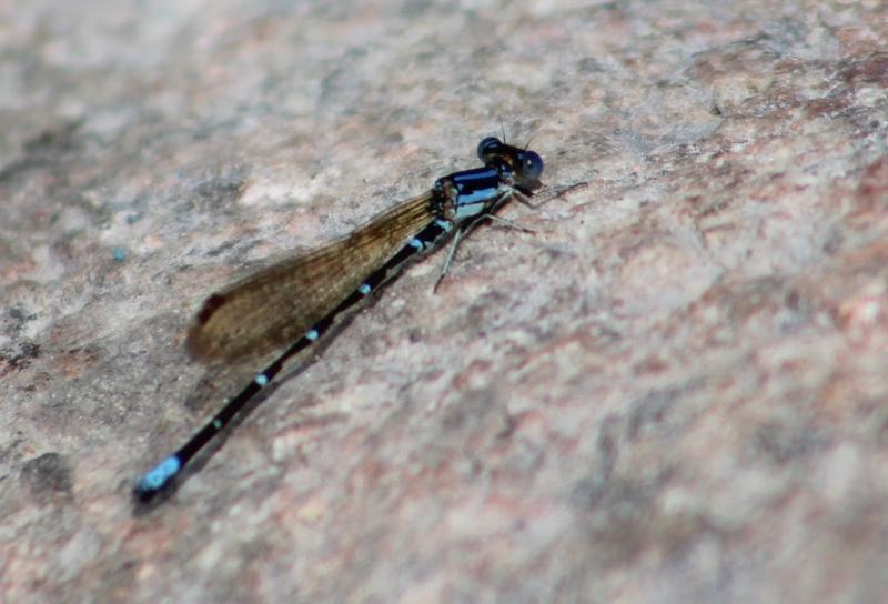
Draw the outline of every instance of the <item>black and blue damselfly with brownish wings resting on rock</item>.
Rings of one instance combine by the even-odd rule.
[[[287,360],[316,342],[342,313],[411,259],[452,240],[443,276],[462,235],[483,219],[503,221],[493,215],[503,203],[529,203],[542,185],[543,160],[534,151],[491,137],[481,141],[477,155],[482,168],[441,178],[430,191],[377,214],[350,235],[260,270],[206,299],[188,336],[192,356],[243,363],[281,352],[179,451],[139,480],[138,500],[148,502],[167,491]]]

